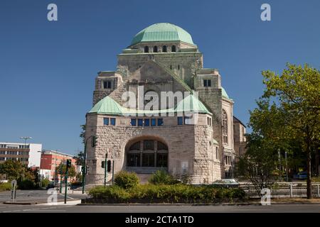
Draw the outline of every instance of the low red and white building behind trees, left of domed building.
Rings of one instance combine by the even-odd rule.
[[[41,165],[40,175],[42,178],[58,181],[60,175],[59,172],[55,172],[55,168],[60,165],[61,162],[65,164],[66,160],[70,159],[71,164],[75,165],[75,157],[65,153],[60,153],[56,150],[43,150],[41,153]],[[78,168],[75,167],[77,171]]]

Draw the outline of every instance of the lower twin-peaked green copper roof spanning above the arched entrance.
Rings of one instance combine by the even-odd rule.
[[[176,108],[161,109],[154,111],[146,111],[139,109],[129,109],[120,106],[117,101],[114,101],[110,96],[106,96],[92,107],[89,113],[97,114],[111,114],[111,115],[134,115],[134,114],[161,114],[161,113],[173,113],[173,112],[198,112],[202,114],[210,114],[210,111],[206,109],[206,106],[198,100],[193,94],[187,96],[181,100]]]

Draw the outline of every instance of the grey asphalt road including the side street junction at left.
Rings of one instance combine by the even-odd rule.
[[[72,192],[72,191],[70,191]],[[80,199],[86,195],[81,192],[69,193],[67,204],[63,204],[64,194],[58,194],[58,205],[46,204],[46,190],[18,190],[16,201],[32,202],[31,205],[4,204],[11,201],[10,192],[0,193],[0,213],[255,213],[255,212],[289,212],[289,213],[320,213],[320,204],[272,204],[271,206],[242,205],[242,206],[192,206],[192,205],[131,205],[131,206],[78,206]],[[38,204],[35,204],[38,203]]]

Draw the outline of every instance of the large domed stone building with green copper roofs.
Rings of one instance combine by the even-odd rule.
[[[191,35],[156,23],[137,33],[117,58],[117,70],[98,73],[86,115],[87,184],[103,183],[105,155],[115,172],[166,170],[188,175],[194,184],[232,177],[234,101],[219,71],[203,67]],[[161,92],[184,96],[161,106],[166,100]],[[128,94],[135,106],[128,106]],[[161,107],[144,108],[151,101]]]

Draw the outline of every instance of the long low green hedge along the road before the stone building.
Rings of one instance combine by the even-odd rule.
[[[118,186],[95,187],[90,190],[94,199],[111,199],[127,202],[133,200],[164,202],[213,202],[215,199],[243,199],[242,189],[218,189],[207,186],[195,187],[189,184],[143,184],[124,189]]]

